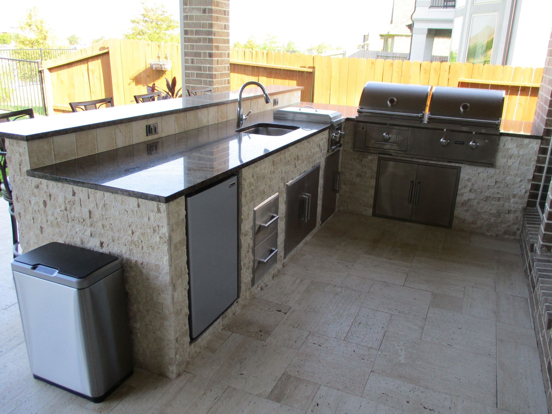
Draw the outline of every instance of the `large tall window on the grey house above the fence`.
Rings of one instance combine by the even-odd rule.
[[[471,17],[466,62],[491,63],[492,44],[495,40],[496,13],[474,14]]]

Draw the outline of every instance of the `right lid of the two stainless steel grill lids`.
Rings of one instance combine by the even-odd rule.
[[[429,102],[428,122],[500,128],[504,91],[436,86]]]

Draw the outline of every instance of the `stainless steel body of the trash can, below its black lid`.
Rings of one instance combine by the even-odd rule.
[[[132,369],[123,273],[86,289],[13,272],[33,375],[99,397]]]

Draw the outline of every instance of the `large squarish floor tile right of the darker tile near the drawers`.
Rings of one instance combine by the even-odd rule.
[[[282,323],[343,339],[365,296],[358,290],[312,282]]]

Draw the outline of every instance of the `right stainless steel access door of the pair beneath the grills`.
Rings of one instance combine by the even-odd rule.
[[[450,226],[454,214],[458,168],[418,165],[412,221]]]

